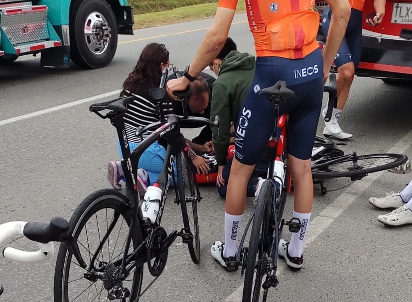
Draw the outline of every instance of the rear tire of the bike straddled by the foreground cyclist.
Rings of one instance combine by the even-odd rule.
[[[271,209],[274,184],[266,180],[258,197],[253,218],[248,255],[246,259],[245,281],[243,284],[243,302],[258,302],[262,288],[263,276],[267,273],[272,246]],[[277,247],[276,247],[277,248]],[[256,272],[256,275],[255,275]],[[256,276],[256,278],[254,278]]]

